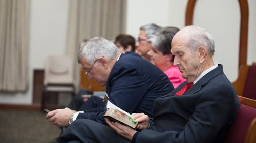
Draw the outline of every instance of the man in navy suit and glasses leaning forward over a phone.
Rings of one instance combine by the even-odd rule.
[[[155,65],[134,52],[120,53],[114,43],[100,37],[88,40],[78,52],[78,63],[89,79],[106,85],[109,100],[127,112],[144,112],[153,117],[157,97],[173,91],[168,77]],[[46,118],[59,127],[76,119],[90,119],[105,124],[106,107],[77,112],[69,108],[49,112]]]

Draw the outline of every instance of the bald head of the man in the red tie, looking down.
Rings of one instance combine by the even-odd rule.
[[[186,26],[175,34],[171,52],[187,82],[195,81],[206,69],[214,65],[214,39],[199,26]]]

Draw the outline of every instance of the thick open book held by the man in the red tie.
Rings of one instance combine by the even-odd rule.
[[[118,108],[110,101],[108,101],[106,108],[108,110],[106,110],[106,112],[104,113],[104,117],[109,118],[110,120],[112,120],[114,122],[117,121],[123,125],[127,125],[133,129],[136,128],[138,122],[135,121],[129,113]]]

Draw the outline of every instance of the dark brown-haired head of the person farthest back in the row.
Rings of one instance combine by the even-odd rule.
[[[114,43],[121,53],[135,51],[135,39],[131,35],[119,34],[116,36]]]

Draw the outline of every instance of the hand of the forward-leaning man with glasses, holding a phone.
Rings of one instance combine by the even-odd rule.
[[[52,122],[53,125],[65,127],[69,125],[69,118],[73,112],[75,111],[70,108],[56,109],[47,113],[46,119]]]

